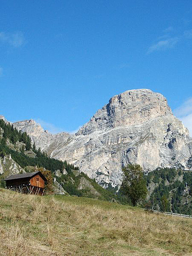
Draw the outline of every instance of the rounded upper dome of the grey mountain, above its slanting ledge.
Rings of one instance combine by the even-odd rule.
[[[113,96],[107,105],[77,132],[92,132],[144,123],[159,116],[172,115],[167,99],[149,89],[135,89]]]

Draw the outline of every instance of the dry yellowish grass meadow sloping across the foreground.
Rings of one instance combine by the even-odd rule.
[[[2,256],[192,255],[192,220],[89,198],[0,189]]]

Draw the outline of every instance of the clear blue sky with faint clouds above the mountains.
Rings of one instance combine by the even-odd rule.
[[[192,2],[1,0],[0,114],[75,132],[129,89],[163,94],[192,136]]]

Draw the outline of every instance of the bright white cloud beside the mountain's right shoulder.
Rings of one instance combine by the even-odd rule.
[[[189,129],[189,134],[192,137],[192,97],[175,109],[174,114],[183,122],[184,126]]]

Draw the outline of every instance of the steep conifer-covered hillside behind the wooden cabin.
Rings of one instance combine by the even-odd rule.
[[[78,195],[102,200],[111,200],[116,197],[114,193],[105,190],[95,180],[88,178],[78,167],[68,164],[66,161],[48,157],[44,152],[36,149],[31,144],[31,139],[26,132],[18,131],[13,125],[0,119],[0,159],[6,162],[8,159],[19,165],[20,172],[29,172],[35,168],[51,171],[57,192],[69,195]],[[0,172],[0,184],[5,186],[3,178],[13,174],[9,167]]]

